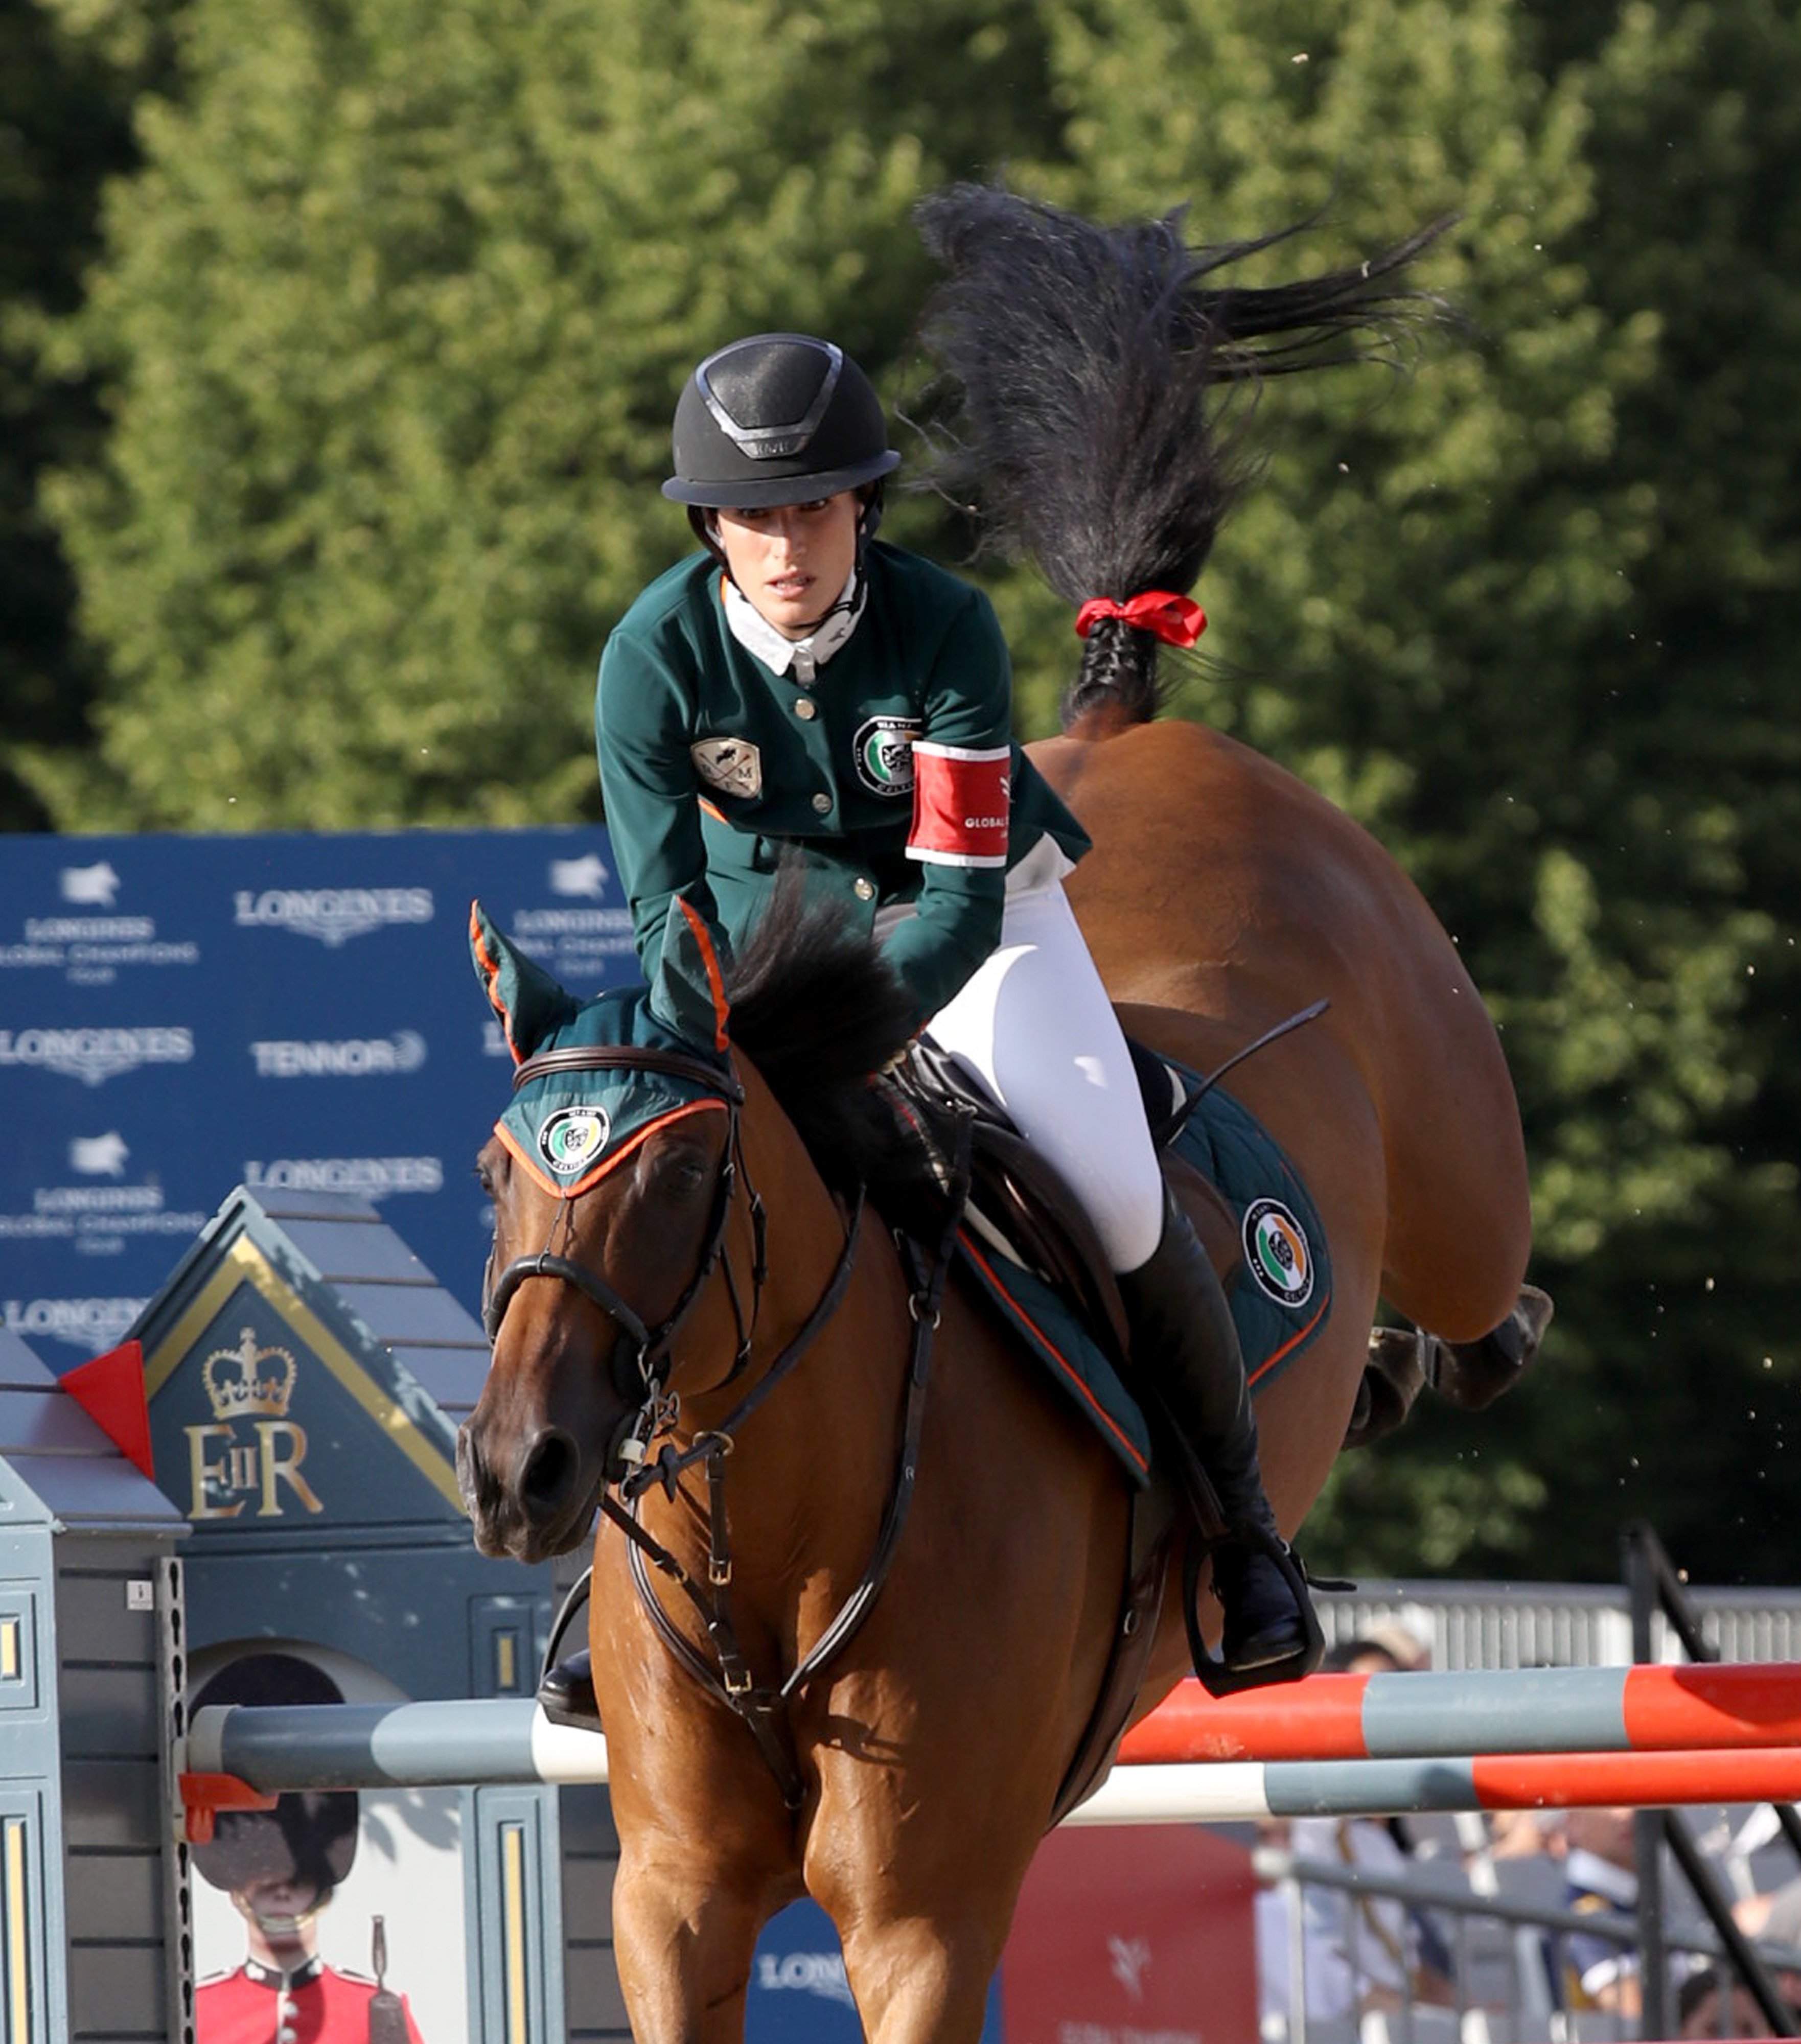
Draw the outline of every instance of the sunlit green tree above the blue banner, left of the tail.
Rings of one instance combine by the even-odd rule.
[[[67,343],[112,407],[53,495],[108,687],[98,760],[35,760],[53,811],[591,814],[597,648],[687,542],[654,491],[685,370],[756,327],[897,347],[910,200],[1041,104],[1026,25],[192,0]]]

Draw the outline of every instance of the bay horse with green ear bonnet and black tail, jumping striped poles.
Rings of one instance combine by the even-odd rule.
[[[1194,585],[1231,495],[1210,382],[1249,376],[1257,335],[1272,372],[1304,335],[1345,360],[1421,245],[1218,292],[1237,251],[1194,256],[1173,221],[1106,233],[955,190],[926,225],[961,276],[938,352],[979,493],[1075,601]],[[1517,1318],[1519,1110],[1406,875],[1269,760],[1157,717],[1153,660],[1143,630],[1098,625],[1032,756],[1094,840],[1069,897],[1133,1036],[1212,1073],[1325,1002],[1229,1081],[1331,1251],[1310,1347],[1259,1396],[1292,1533],[1378,1296],[1449,1345]],[[487,1553],[564,1553],[603,1515],[589,1645],[634,2034],[742,2036],[758,1930],[812,1895],[877,2044],[967,2044],[1059,1803],[1188,1668],[1182,1590],[1122,1615],[1147,1578],[1114,1451],[832,1147],[820,1102],[867,1098],[908,1028],[875,946],[767,918],[728,1000],[705,930],[671,916],[664,957],[693,944],[685,981],[713,989],[695,1044],[636,995],[576,1002],[480,912],[472,942],[519,1065],[478,1163],[493,1367],[458,1470]]]

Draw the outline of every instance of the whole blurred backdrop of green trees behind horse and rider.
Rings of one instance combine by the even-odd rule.
[[[0,828],[597,816],[691,364],[902,409],[957,176],[1460,319],[1272,384],[1177,707],[1402,858],[1513,1061],[1545,1357],[1319,1566],[1801,1576],[1801,16],[1776,0],[27,0],[0,14]],[[902,425],[902,448],[910,446]],[[889,531],[965,562],[930,497]],[[1020,730],[1065,609],[1000,605]],[[1196,875],[1198,887],[1206,875]]]

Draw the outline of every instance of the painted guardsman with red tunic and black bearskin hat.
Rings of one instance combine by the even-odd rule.
[[[215,1703],[343,1703],[343,1692],[294,1654],[247,1654],[211,1676],[190,1709]],[[235,1972],[194,1991],[198,2044],[421,2044],[403,1995],[319,1956],[317,1917],[356,1860],[356,1827],[354,1791],[307,1788],[270,1811],[221,1811],[211,1844],[190,1848],[196,1870],[231,1897],[247,1942]]]

